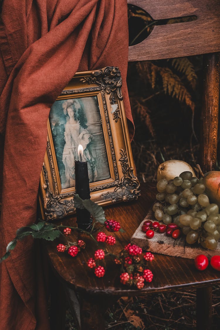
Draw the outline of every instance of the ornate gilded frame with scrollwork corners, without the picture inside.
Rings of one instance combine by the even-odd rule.
[[[97,96],[110,178],[90,183],[91,199],[104,206],[137,199],[140,183],[134,170],[123,96],[117,67],[78,72],[58,96],[67,100]],[[39,197],[43,218],[53,220],[75,213],[75,187],[62,189],[48,120],[47,151],[41,172]]]

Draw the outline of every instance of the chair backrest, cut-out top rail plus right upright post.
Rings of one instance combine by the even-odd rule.
[[[217,157],[220,1],[127,0],[153,19],[197,16],[190,22],[156,25],[141,43],[129,47],[129,61],[204,55],[200,163],[204,172],[214,170]]]

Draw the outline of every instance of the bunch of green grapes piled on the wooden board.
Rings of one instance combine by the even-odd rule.
[[[173,180],[159,180],[153,212],[158,221],[177,224],[188,244],[216,249],[220,238],[219,207],[210,203],[202,179],[185,171]]]

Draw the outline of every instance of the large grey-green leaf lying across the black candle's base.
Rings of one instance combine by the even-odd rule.
[[[81,199],[78,194],[74,197],[74,205],[78,209],[86,209],[88,210],[94,219],[100,223],[104,223],[106,221],[105,212],[103,208],[91,201],[91,199]]]

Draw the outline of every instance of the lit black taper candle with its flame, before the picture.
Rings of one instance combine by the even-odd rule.
[[[86,161],[81,161],[82,152],[83,148],[79,145],[78,154],[80,155],[80,161],[75,161],[76,194],[81,199],[90,199],[88,165]],[[91,214],[86,209],[76,209],[76,211],[78,227],[90,231],[92,228]]]

